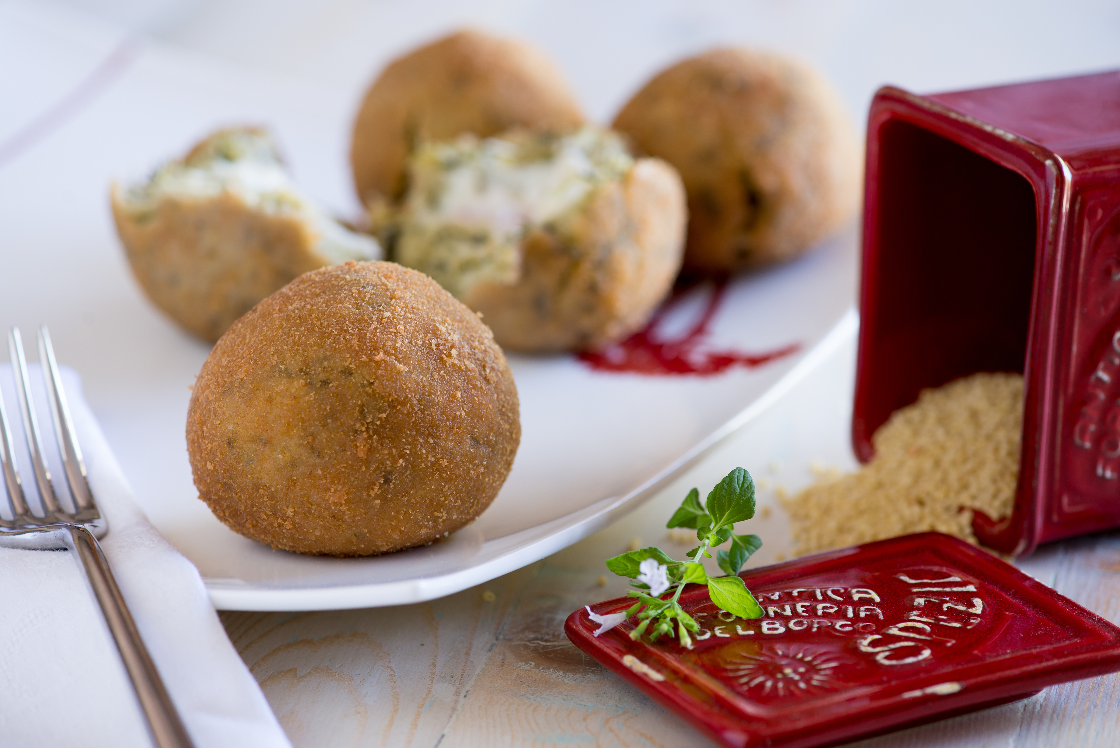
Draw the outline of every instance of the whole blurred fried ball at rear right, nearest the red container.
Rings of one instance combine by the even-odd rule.
[[[842,104],[812,68],[775,55],[685,59],[635,94],[614,127],[681,173],[690,269],[790,259],[859,206],[861,149]]]

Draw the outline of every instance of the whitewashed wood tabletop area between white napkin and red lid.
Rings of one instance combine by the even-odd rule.
[[[416,606],[221,615],[296,746],[709,745],[564,637],[622,591],[571,551]]]

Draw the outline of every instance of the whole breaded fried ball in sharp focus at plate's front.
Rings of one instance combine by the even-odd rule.
[[[421,273],[308,273],[214,347],[187,414],[199,497],[236,532],[309,554],[431,543],[477,517],[521,440],[489,330]]]

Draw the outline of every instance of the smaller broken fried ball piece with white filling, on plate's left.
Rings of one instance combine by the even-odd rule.
[[[376,240],[347,230],[295,187],[258,128],[218,130],[147,183],[113,185],[111,198],[148,297],[209,342],[301,273],[381,257]]]

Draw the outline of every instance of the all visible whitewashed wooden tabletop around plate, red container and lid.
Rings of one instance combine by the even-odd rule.
[[[226,611],[222,620],[297,748],[711,746],[572,646],[563,620],[625,592],[624,580],[608,579],[605,558],[645,545],[682,557],[691,545],[665,520],[689,488],[707,491],[736,464],[760,486],[759,511],[738,530],[766,543],[748,565],[782,561],[790,543],[777,493],[813,480],[822,465],[853,467],[853,368],[855,349],[838,351],[634,514],[487,584],[416,606]],[[1120,624],[1120,532],[1043,546],[1018,565]],[[1120,678],[1109,675],[852,745],[1111,748],[1118,736]]]

